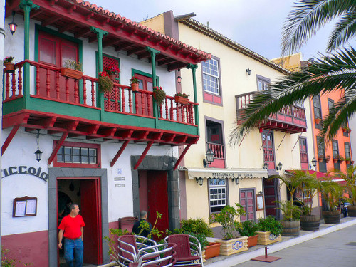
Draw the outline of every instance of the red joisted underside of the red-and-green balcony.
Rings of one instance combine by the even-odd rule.
[[[199,135],[189,135],[162,129],[132,127],[110,124],[96,120],[86,120],[80,117],[21,110],[4,115],[3,129],[25,127],[28,132],[36,129],[47,130],[48,135],[68,133],[68,137],[85,137],[87,140],[153,142],[158,145],[193,145],[199,140]]]

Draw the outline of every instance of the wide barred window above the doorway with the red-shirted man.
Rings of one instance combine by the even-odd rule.
[[[57,162],[96,164],[98,153],[95,148],[62,146],[58,150]]]

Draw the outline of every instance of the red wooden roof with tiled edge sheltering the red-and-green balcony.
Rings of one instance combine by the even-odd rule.
[[[83,0],[32,0],[38,10],[31,10],[31,19],[40,21],[41,26],[53,26],[59,33],[73,33],[75,38],[87,38],[89,43],[97,41],[97,35],[90,27],[107,31],[103,36],[103,47],[112,46],[115,51],[126,51],[128,56],[138,59],[149,58],[146,46],[160,53],[156,56],[158,66],[167,70],[184,68],[189,63],[197,64],[211,58],[211,54],[201,51],[162,33],[147,28],[135,21],[115,14],[95,4]],[[23,15],[20,0],[6,0],[6,17],[12,11]]]

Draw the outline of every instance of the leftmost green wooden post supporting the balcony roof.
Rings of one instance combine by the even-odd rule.
[[[31,0],[21,0],[20,8],[23,9],[23,16],[25,20],[24,25],[24,56],[23,58],[26,60],[30,59],[30,12],[31,9],[39,9],[40,6],[33,4]],[[25,83],[23,84],[23,97],[25,98],[24,108],[26,109],[29,101],[30,101],[30,63],[25,62],[23,68],[23,79]]]

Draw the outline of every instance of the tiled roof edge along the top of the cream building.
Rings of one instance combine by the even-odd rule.
[[[256,61],[265,64],[266,66],[269,66],[275,70],[280,71],[283,74],[289,73],[289,71],[286,68],[283,68],[278,64],[274,63],[273,61],[270,61],[268,58],[265,58],[259,55],[258,53],[251,51],[245,46],[241,46],[241,44],[236,43],[236,41],[233,41],[230,38],[227,38],[226,36],[222,35],[221,33],[214,31],[213,29],[205,26],[203,23],[200,23],[199,21],[195,21],[194,19],[184,19],[184,20],[179,20],[179,22],[183,23],[189,28],[194,29],[195,31],[199,31],[199,33],[203,33],[204,35],[209,36],[210,38],[213,38],[214,40],[219,41],[220,43],[223,43],[225,46],[228,46],[231,49],[239,51],[240,53],[243,53],[244,55],[253,58]]]

